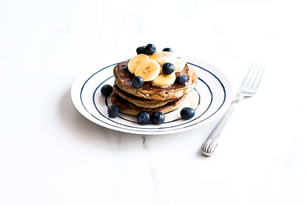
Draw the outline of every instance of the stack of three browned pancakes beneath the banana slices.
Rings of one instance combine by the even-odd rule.
[[[191,92],[198,78],[195,71],[185,65],[185,68],[178,73],[187,76],[185,84],[179,84],[176,81],[168,87],[158,87],[151,84],[150,81],[144,82],[139,89],[134,88],[132,79],[135,77],[128,70],[128,61],[124,61],[115,66],[113,73],[115,83],[111,95],[112,104],[117,104],[120,111],[132,115],[138,115],[139,112],[170,112],[187,101],[187,94]]]

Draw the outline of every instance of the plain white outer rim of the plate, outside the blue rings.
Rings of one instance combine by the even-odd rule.
[[[126,55],[127,56],[127,55]],[[214,72],[215,74],[217,74],[219,77],[223,77],[223,85],[224,87],[226,88],[227,87],[227,95],[228,95],[228,99],[227,99],[227,96],[225,98],[225,102],[224,104],[220,107],[220,109],[212,114],[212,116],[210,116],[208,119],[210,120],[204,120],[202,122],[199,122],[197,124],[194,124],[194,125],[191,125],[189,127],[185,127],[185,128],[178,128],[178,129],[173,129],[173,130],[165,130],[165,131],[160,131],[160,132],[146,132],[146,131],[142,131],[142,130],[127,130],[127,129],[124,129],[124,128],[118,128],[118,127],[114,127],[112,125],[109,125],[109,124],[99,124],[97,123],[96,121],[93,121],[93,119],[91,119],[92,116],[91,113],[89,113],[86,108],[84,107],[80,107],[77,106],[77,99],[74,98],[74,90],[76,89],[77,85],[78,85],[78,82],[80,81],[80,79],[82,79],[84,77],[84,74],[85,73],[91,73],[90,71],[91,70],[95,70],[97,71],[97,66],[99,67],[103,67],[101,65],[109,65],[109,63],[107,62],[113,62],[112,64],[110,65],[113,65],[114,62],[117,62],[118,59],[126,59],[124,56],[120,56],[120,55],[116,55],[116,56],[113,56],[113,57],[110,57],[108,59],[103,59],[103,60],[100,60],[100,61],[97,61],[96,63],[88,66],[86,69],[84,69],[74,80],[73,84],[72,84],[72,87],[70,89],[70,96],[71,96],[71,100],[72,100],[72,104],[74,105],[74,107],[76,108],[76,110],[82,115],[84,116],[86,119],[90,120],[91,122],[95,123],[95,124],[98,124],[99,126],[102,126],[102,127],[105,127],[105,128],[108,128],[108,129],[111,129],[111,130],[115,130],[115,131],[119,131],[119,132],[124,132],[124,133],[130,133],[130,134],[138,134],[138,135],[165,135],[165,134],[172,134],[172,133],[178,133],[178,132],[184,132],[184,131],[188,131],[188,130],[191,130],[191,129],[194,129],[194,128],[197,128],[197,127],[200,127],[204,124],[207,124],[209,122],[211,122],[212,120],[215,120],[217,117],[221,116],[226,110],[227,108],[230,106],[231,104],[231,97],[232,97],[232,87],[231,87],[231,83],[228,79],[228,77],[218,68],[216,68],[215,66],[201,60],[201,59],[197,59],[195,57],[191,57],[191,56],[187,56],[187,55],[178,55],[180,57],[183,57],[185,59],[189,59],[187,62],[191,62],[192,64],[193,61],[201,61],[202,63],[204,64],[207,64],[207,65],[210,65],[211,66],[211,69],[214,68]],[[116,63],[117,64],[117,63]],[[114,65],[116,65],[114,64]],[[196,64],[195,64],[196,65]],[[210,70],[209,70],[210,71]],[[211,71],[210,71],[211,72]],[[88,75],[87,75],[88,76]],[[80,97],[79,97],[80,98]],[[78,101],[78,103],[80,103],[80,100]],[[94,117],[95,118],[95,117]],[[103,121],[103,120],[102,120]]]

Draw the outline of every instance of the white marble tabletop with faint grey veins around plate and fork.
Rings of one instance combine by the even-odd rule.
[[[305,1],[0,1],[0,204],[307,204]],[[73,107],[76,76],[153,43],[221,69],[267,62],[218,153],[217,120],[115,132]],[[128,58],[128,56],[127,56]]]

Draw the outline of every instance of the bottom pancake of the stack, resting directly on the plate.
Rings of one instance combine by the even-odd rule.
[[[142,108],[139,106],[136,106],[135,104],[127,101],[126,99],[120,97],[118,94],[116,93],[112,93],[111,96],[111,102],[112,104],[117,104],[120,107],[120,112],[123,113],[127,113],[127,114],[131,114],[131,115],[138,115],[139,112],[142,111],[146,111],[149,112],[150,114],[153,112],[170,112],[173,111],[177,108],[179,108],[181,105],[183,105],[186,101],[187,101],[187,96],[183,96],[180,99],[173,101],[173,102],[169,102],[159,108]]]

